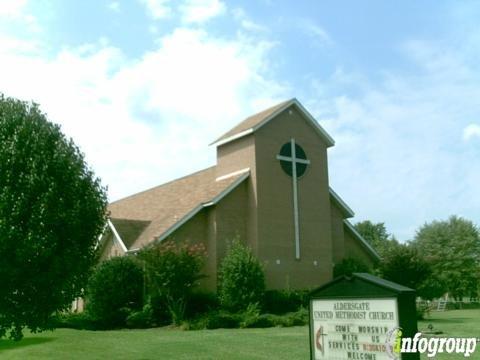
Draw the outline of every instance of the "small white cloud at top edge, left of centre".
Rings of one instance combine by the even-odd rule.
[[[184,23],[204,23],[225,14],[226,6],[220,0],[184,0],[179,10]]]

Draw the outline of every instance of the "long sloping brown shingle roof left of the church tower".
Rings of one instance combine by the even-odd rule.
[[[216,181],[216,168],[213,166],[111,203],[108,206],[110,218],[117,219],[117,223],[118,219],[122,219],[124,232],[129,234],[130,244],[125,244],[129,250],[141,248],[169,231],[202,204],[213,201],[244,176],[239,174]],[[117,231],[124,240],[120,230]]]

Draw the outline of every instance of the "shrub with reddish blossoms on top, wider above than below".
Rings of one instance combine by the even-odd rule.
[[[145,262],[152,305],[164,307],[173,323],[179,325],[185,316],[187,300],[202,278],[203,245],[177,245],[168,241],[143,250],[139,258]],[[163,311],[159,310],[157,315]]]

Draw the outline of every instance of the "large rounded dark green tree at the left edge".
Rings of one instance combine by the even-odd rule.
[[[0,95],[0,338],[41,331],[82,293],[106,193],[36,104]]]

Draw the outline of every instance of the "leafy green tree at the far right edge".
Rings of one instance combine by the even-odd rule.
[[[476,295],[480,279],[480,236],[461,217],[433,221],[417,231],[412,245],[454,297]]]

